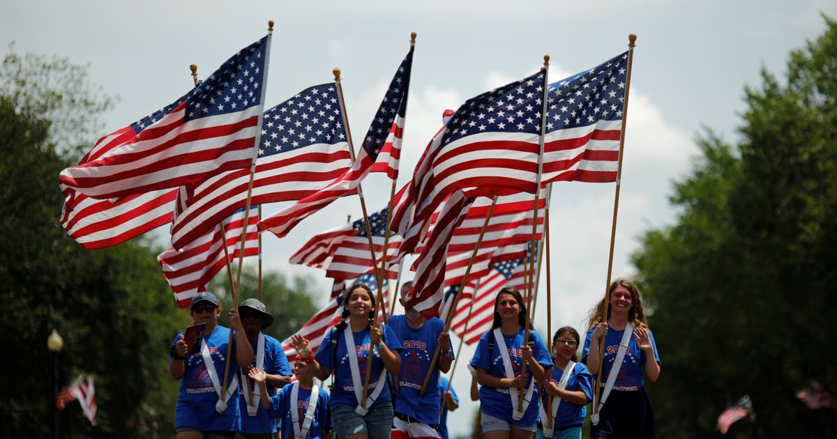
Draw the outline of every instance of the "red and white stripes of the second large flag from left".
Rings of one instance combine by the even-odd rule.
[[[348,143],[322,143],[259,157],[252,204],[300,200],[321,191],[352,164]],[[172,224],[172,245],[180,248],[247,202],[249,169],[228,171],[194,186],[188,207]]]

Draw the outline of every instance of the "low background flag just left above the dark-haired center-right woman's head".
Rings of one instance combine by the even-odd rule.
[[[528,246],[527,246],[528,247]],[[491,329],[491,322],[494,319],[494,299],[498,291],[506,286],[521,289],[526,286],[526,275],[529,270],[529,259],[524,253],[522,258],[501,260],[494,264],[490,273],[480,278],[479,283],[470,282],[462,292],[459,304],[456,306],[454,317],[451,320],[450,329],[470,345],[480,339],[485,331]],[[476,286],[476,291],[474,291]],[[455,293],[459,285],[451,287]],[[474,303],[470,319],[468,310]],[[465,331],[465,325],[468,328]]]

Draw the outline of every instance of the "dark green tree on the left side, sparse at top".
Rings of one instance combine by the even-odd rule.
[[[84,69],[64,69],[69,65],[65,59],[11,54],[0,70],[4,81],[15,81],[4,83],[0,93],[0,246],[6,249],[0,255],[0,300],[8,309],[0,337],[6,370],[12,371],[2,379],[3,430],[9,436],[49,436],[53,358],[46,339],[58,329],[64,337],[61,379],[94,375],[99,406],[95,427],[78,404],[67,406],[63,436],[149,436],[143,425],[172,431],[177,383],[168,377],[167,347],[187,315],[172,305],[155,253],[142,240],[85,250],[59,225],[63,197],[57,176],[77,160],[75,149],[59,147],[59,140],[85,130],[76,124],[80,120],[59,113],[89,112],[88,120],[97,120],[107,108],[95,97],[85,100],[84,87],[62,89],[66,74],[81,75],[72,84],[88,84]]]

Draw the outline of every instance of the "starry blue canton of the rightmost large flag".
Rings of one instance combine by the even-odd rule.
[[[547,132],[576,128],[597,120],[621,120],[628,52],[593,69],[549,84]]]

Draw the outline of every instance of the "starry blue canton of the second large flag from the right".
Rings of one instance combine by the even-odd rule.
[[[540,135],[544,72],[465,101],[448,122],[446,145],[481,132]]]

